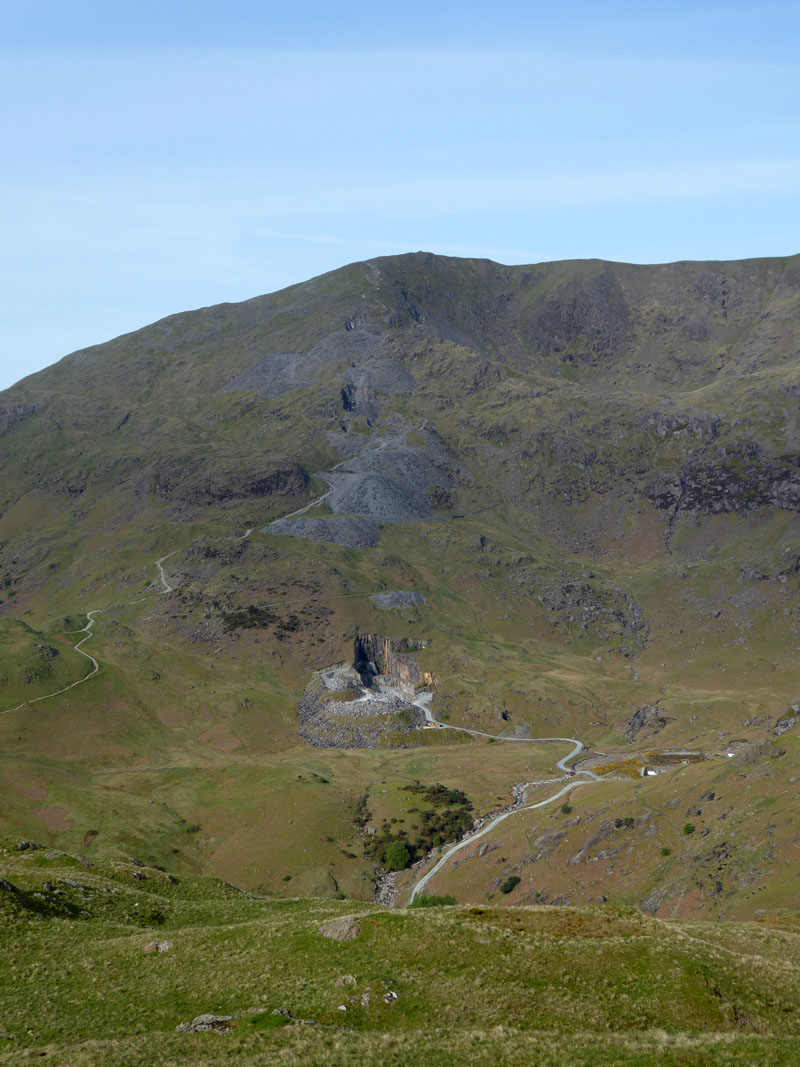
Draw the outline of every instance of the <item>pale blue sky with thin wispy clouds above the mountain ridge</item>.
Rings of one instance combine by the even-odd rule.
[[[426,249],[800,252],[800,4],[0,0],[0,387]]]

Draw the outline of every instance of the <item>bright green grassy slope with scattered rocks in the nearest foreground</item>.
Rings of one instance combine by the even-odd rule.
[[[613,905],[263,898],[6,843],[0,946],[3,1064],[775,1067],[800,1054],[787,914],[711,926]]]

